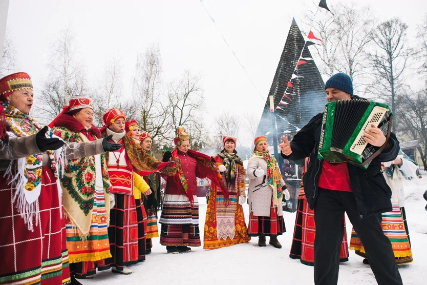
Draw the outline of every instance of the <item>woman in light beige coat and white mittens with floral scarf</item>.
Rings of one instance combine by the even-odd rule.
[[[258,236],[258,246],[265,247],[265,237],[270,245],[282,248],[277,236],[286,232],[283,220],[282,199],[289,200],[289,191],[280,174],[277,160],[268,151],[265,136],[254,140],[255,149],[249,158],[249,236]]]

